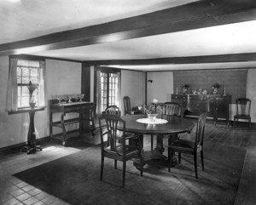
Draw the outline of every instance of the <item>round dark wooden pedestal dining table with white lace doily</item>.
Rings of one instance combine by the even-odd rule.
[[[187,118],[182,120],[174,120],[168,122],[166,119],[160,118],[160,114],[150,119],[147,115],[126,115],[121,117],[125,120],[125,131],[131,134],[139,134],[142,139],[151,137],[151,134],[156,135],[156,146],[153,151],[145,151],[143,148],[143,164],[149,162],[157,162],[167,165],[167,157],[164,155],[163,139],[168,138],[168,143],[172,140],[177,140],[178,134],[190,133],[195,127],[195,121]],[[121,128],[120,128],[121,129]],[[172,167],[177,164],[177,158],[173,155]],[[135,160],[134,165],[139,168],[139,161]]]

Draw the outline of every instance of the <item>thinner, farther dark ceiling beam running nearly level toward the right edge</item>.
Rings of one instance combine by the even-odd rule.
[[[191,57],[143,59],[143,60],[97,60],[84,61],[84,65],[160,65],[160,64],[200,64],[200,63],[231,63],[256,61],[256,53],[218,54]]]

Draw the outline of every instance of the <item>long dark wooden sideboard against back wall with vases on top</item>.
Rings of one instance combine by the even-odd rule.
[[[207,111],[215,125],[218,119],[224,119],[230,125],[231,95],[221,94],[172,94],[172,101],[182,106],[184,115],[199,116]]]

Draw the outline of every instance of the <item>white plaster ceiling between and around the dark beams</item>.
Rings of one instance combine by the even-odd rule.
[[[40,37],[153,11],[195,0],[1,0],[0,44]],[[256,53],[256,20],[225,26],[178,31],[77,48],[20,49],[24,54],[68,60],[141,60],[218,54]],[[115,65],[141,71],[256,67],[255,61],[182,64]]]

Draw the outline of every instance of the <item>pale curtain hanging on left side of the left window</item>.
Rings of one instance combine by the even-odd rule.
[[[7,111],[17,111],[18,108],[17,62],[17,59],[10,59],[8,91],[6,101]]]

